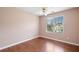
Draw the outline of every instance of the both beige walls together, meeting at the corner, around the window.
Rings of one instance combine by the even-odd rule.
[[[37,37],[38,34],[79,44],[79,8],[66,10],[50,16],[64,16],[64,33],[47,33],[46,17],[42,16],[39,19],[35,15],[16,8],[0,7],[0,48]]]

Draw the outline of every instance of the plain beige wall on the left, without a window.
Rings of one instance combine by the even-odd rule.
[[[0,8],[0,48],[38,36],[38,28],[37,16],[16,8]]]

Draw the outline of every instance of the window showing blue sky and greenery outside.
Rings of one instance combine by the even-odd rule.
[[[64,31],[64,17],[48,17],[47,18],[47,32],[63,32]]]

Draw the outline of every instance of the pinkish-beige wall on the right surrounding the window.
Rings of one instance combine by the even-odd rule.
[[[79,44],[79,8],[65,10],[50,15],[64,16],[64,33],[48,33],[46,32],[46,17],[40,18],[40,36],[55,38],[66,42]],[[48,17],[50,17],[48,16]]]

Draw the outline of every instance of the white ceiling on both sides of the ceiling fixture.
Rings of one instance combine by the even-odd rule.
[[[37,16],[43,15],[42,8],[43,7],[17,7],[20,10],[32,13]],[[56,13],[64,10],[71,9],[72,7],[48,7],[47,14]]]

